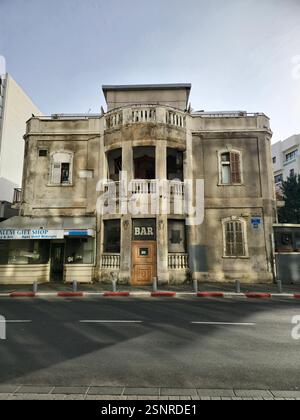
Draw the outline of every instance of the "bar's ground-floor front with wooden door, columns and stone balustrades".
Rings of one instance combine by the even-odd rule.
[[[190,279],[188,234],[184,219],[121,218],[102,221],[99,237],[102,282],[117,272],[119,283],[147,286]]]

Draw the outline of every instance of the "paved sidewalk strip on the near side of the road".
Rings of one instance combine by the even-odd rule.
[[[300,400],[300,391],[0,385],[0,400]]]

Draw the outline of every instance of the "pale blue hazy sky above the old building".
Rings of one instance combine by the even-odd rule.
[[[192,83],[195,110],[300,133],[300,0],[0,0],[0,56],[46,115],[100,112],[103,84]]]

